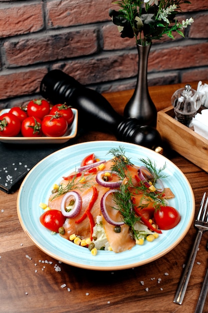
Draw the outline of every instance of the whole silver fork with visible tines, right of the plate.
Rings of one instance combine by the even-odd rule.
[[[207,212],[207,206],[208,206],[208,197],[206,200],[206,203],[204,205],[205,202],[205,196],[206,196],[206,192],[203,195],[201,204],[200,204],[200,210],[199,213],[197,215],[197,219],[195,220],[195,227],[198,228],[198,233],[195,239],[195,243],[193,245],[188,263],[185,267],[183,276],[181,278],[181,282],[179,284],[178,290],[176,292],[176,296],[174,298],[174,302],[178,303],[178,304],[182,304],[185,293],[186,293],[186,289],[189,283],[189,279],[191,276],[191,272],[192,272],[192,268],[194,266],[194,262],[197,256],[197,252],[199,249],[199,245],[200,245],[200,241],[202,239],[202,234],[204,231],[208,230],[208,212]]]

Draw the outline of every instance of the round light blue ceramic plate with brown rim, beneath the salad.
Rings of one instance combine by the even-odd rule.
[[[121,253],[113,251],[98,251],[91,255],[87,248],[78,246],[59,234],[51,235],[40,224],[39,216],[42,209],[40,202],[47,199],[54,183],[59,183],[78,168],[81,160],[94,152],[97,158],[108,159],[106,155],[111,148],[122,146],[126,156],[134,164],[140,165],[140,158],[149,157],[156,162],[158,168],[166,163],[163,178],[165,186],[171,188],[175,198],[170,205],[176,207],[181,214],[180,223],[163,233],[153,242],[136,245],[131,250]],[[191,185],[182,171],[163,155],[148,148],[120,141],[92,141],[79,143],[60,149],[45,157],[27,174],[23,180],[17,198],[17,213],[23,230],[42,251],[51,257],[77,267],[96,270],[116,270],[140,266],[151,262],[173,249],[186,235],[194,218],[195,198]]]

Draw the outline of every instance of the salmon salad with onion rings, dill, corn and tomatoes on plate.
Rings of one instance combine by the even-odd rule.
[[[107,159],[94,153],[54,183],[41,224],[93,255],[99,250],[122,252],[157,239],[181,219],[168,200],[175,195],[164,187],[166,164],[138,159],[133,164],[123,147],[111,149]]]

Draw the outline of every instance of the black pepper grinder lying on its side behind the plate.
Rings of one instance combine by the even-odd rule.
[[[117,140],[140,144],[162,153],[162,139],[154,127],[139,125],[136,118],[118,114],[99,92],[87,88],[59,69],[49,71],[40,83],[41,95],[52,104],[64,103],[78,110],[84,129],[115,134]]]

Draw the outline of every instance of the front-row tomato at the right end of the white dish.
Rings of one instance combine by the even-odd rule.
[[[48,137],[63,136],[68,127],[67,121],[60,114],[46,115],[42,120],[42,132]]]

